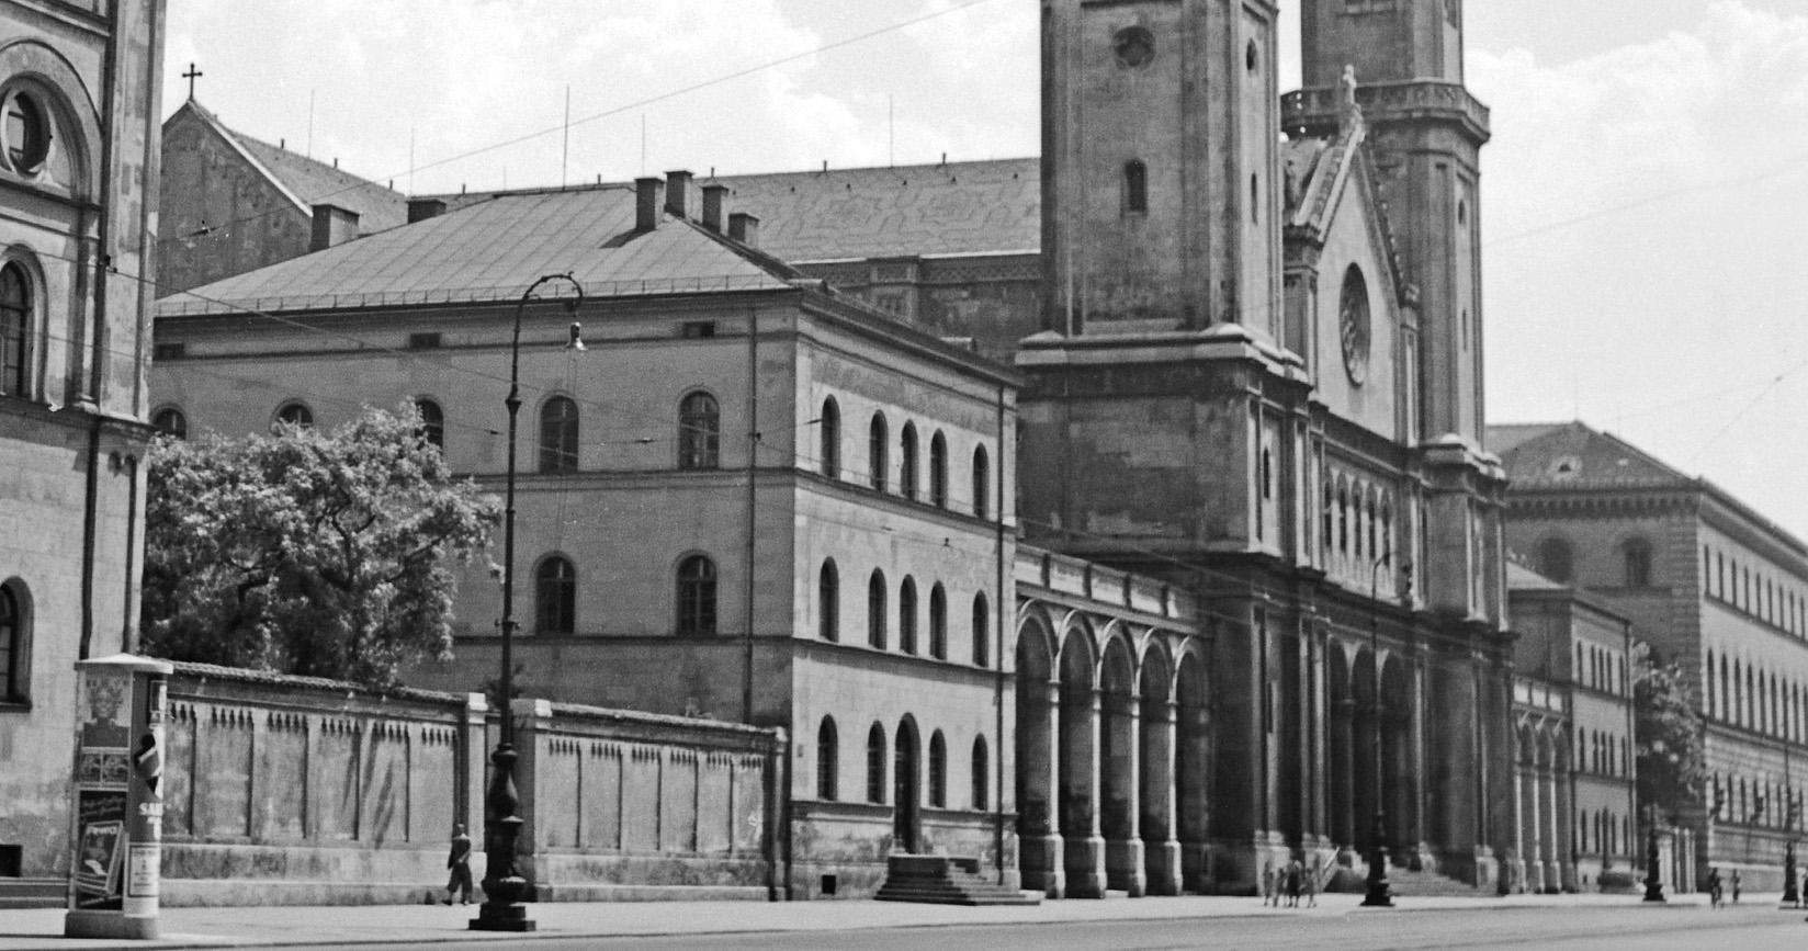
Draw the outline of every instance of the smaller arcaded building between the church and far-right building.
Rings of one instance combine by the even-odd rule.
[[[1638,819],[1633,627],[1593,595],[1519,564],[1513,611],[1513,891],[1625,891]]]

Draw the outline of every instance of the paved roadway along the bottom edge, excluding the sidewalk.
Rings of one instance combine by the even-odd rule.
[[[579,947],[749,947],[749,949],[915,949],[1002,951],[1012,947],[1085,947],[1157,951],[1182,947],[1226,949],[1638,949],[1703,947],[1721,951],[1808,949],[1803,911],[1745,906],[1705,908],[1497,908],[1461,911],[1351,911],[1331,917],[1164,918],[1116,922],[1050,922],[940,927],[879,927],[785,931],[758,935],[680,935],[669,938],[555,938],[535,940],[533,951]],[[344,947],[344,946],[342,946]],[[419,946],[371,946],[396,951]],[[515,949],[513,942],[468,942],[466,949]]]

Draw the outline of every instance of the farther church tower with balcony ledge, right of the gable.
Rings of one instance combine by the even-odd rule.
[[[1389,221],[1419,287],[1419,439],[1483,438],[1481,204],[1477,155],[1488,108],[1463,87],[1463,0],[1305,0],[1305,89],[1289,132],[1338,121],[1354,71]]]

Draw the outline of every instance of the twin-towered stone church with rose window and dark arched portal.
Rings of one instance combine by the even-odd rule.
[[[1510,830],[1454,7],[1305,4],[1309,89],[1276,108],[1273,4],[1043,4],[1025,537],[1210,598],[1215,880],[1354,864],[1380,812],[1414,868],[1492,884]],[[1085,808],[1025,830],[1025,880],[1114,879],[1088,790],[1038,796]]]

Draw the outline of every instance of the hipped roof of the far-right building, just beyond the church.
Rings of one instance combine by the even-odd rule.
[[[1683,488],[1696,479],[1580,421],[1488,427],[1517,488]]]

